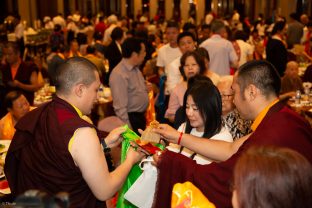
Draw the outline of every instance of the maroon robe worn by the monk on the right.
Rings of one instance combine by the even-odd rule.
[[[307,121],[282,103],[272,106],[255,132],[225,162],[198,165],[174,152],[161,156],[153,207],[170,207],[175,183],[191,181],[216,207],[231,206],[230,184],[239,156],[251,146],[287,147],[304,155],[312,164],[312,130]]]

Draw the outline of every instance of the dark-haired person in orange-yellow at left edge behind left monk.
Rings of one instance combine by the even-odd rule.
[[[0,139],[12,139],[15,124],[28,113],[31,108],[25,96],[19,91],[11,91],[4,98],[8,113],[0,120]]]

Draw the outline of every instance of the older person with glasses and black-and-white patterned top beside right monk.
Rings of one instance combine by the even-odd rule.
[[[222,126],[232,134],[233,139],[241,138],[251,132],[251,121],[241,118],[233,103],[234,92],[231,89],[233,76],[221,77],[217,87],[222,98]]]

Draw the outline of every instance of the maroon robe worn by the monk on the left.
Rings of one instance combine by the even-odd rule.
[[[70,138],[81,127],[95,128],[58,97],[17,123],[5,162],[13,196],[29,189],[51,195],[65,191],[71,207],[104,206],[91,192],[68,151]]]

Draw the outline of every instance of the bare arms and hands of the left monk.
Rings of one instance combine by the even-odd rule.
[[[124,130],[120,128],[114,131],[114,135],[107,136],[105,141],[109,147],[113,143],[118,144],[116,140],[122,131]],[[110,173],[99,138],[92,128],[80,128],[76,131],[70,153],[92,193],[101,201],[112,197],[122,187],[132,166],[143,157],[143,153],[129,149],[126,160]]]

